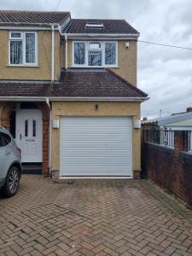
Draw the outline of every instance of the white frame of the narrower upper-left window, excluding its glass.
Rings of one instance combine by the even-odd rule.
[[[11,33],[20,33],[20,38],[12,38]],[[26,34],[34,34],[35,35],[35,62],[27,63],[26,62]],[[10,42],[11,41],[21,41],[22,42],[22,63],[20,64],[12,64],[10,62]],[[37,67],[38,66],[38,32],[34,31],[9,31],[9,66],[13,67]]]

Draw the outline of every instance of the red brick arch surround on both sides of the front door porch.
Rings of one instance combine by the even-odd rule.
[[[35,102],[43,114],[43,162],[42,174],[44,177],[49,176],[49,109],[44,102]],[[7,102],[3,108],[1,125],[9,130],[10,113],[15,108],[15,102]]]

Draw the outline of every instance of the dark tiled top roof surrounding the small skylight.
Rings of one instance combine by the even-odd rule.
[[[87,23],[102,23],[103,27],[86,27]],[[83,20],[72,19],[63,29],[65,33],[96,33],[96,34],[138,34],[125,20]]]

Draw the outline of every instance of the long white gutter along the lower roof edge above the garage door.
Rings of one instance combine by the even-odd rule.
[[[46,102],[47,97],[40,96],[0,96],[2,102]],[[90,96],[50,96],[49,102],[145,102],[149,99],[146,97],[90,97]]]

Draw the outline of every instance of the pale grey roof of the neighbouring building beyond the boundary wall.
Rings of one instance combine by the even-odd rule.
[[[192,112],[189,113],[177,113],[170,116],[165,116],[157,119],[148,119],[146,121],[142,121],[143,125],[147,124],[156,124],[160,126],[169,125],[177,122],[182,122],[188,119],[192,119]]]

